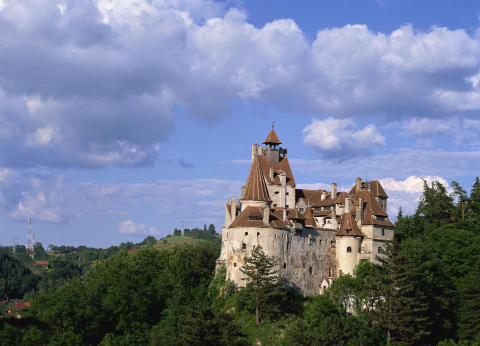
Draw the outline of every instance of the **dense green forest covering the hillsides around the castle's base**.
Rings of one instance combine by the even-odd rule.
[[[0,289],[33,300],[21,318],[1,318],[0,342],[480,344],[478,177],[468,192],[455,181],[448,191],[424,182],[416,212],[400,209],[395,225],[381,265],[360,262],[355,275],[341,275],[308,297],[289,289],[260,247],[241,268],[244,287],[215,269],[217,241],[117,248],[43,286],[42,277],[3,251]],[[213,236],[206,225],[193,233],[205,230]]]

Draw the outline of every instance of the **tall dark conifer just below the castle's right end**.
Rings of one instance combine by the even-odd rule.
[[[425,295],[413,279],[414,265],[401,251],[395,240],[380,250],[376,259],[375,281],[378,322],[386,331],[388,342],[421,343],[429,335],[431,324]]]

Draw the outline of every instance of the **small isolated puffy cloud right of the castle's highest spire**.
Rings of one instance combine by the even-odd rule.
[[[355,156],[369,156],[372,150],[385,145],[375,125],[357,130],[351,119],[313,119],[303,131],[303,143],[320,156],[339,161]]]

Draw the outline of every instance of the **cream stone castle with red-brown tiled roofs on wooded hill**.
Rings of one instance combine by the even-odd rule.
[[[225,203],[221,252],[226,278],[243,285],[239,270],[255,245],[278,263],[278,272],[303,294],[321,293],[362,260],[375,262],[395,227],[388,196],[378,180],[356,178],[350,191],[296,189],[287,149],[273,126],[252,145],[251,167],[241,196]]]

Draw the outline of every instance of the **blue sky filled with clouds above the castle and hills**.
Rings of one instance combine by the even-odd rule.
[[[0,0],[0,244],[224,223],[274,128],[298,188],[480,170],[476,1]]]

